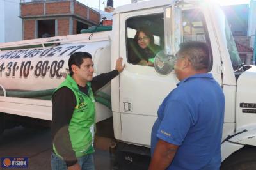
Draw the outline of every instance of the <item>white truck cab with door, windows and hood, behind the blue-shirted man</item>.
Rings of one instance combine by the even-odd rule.
[[[155,69],[131,62],[131,41],[140,27],[147,27],[154,35],[155,45],[159,45],[167,56],[168,47],[173,48],[169,56],[174,56],[180,42],[207,43],[211,53],[209,72],[226,98],[221,151],[222,160],[228,163],[223,167],[233,168],[234,161],[228,159],[232,153],[239,155],[248,148],[255,151],[253,86],[256,85],[256,68],[241,63],[227,19],[219,6],[198,1],[173,1],[168,5],[170,1],[157,1],[157,4],[145,1],[116,8],[113,13],[112,62],[122,56],[126,65],[119,79],[111,82],[115,138],[127,147],[134,144],[150,147],[157,109],[179,82],[174,72],[157,72],[156,65]],[[253,163],[248,164],[252,166]]]

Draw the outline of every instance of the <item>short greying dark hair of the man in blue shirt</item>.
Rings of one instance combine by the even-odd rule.
[[[190,41],[181,43],[177,54],[188,56],[195,70],[207,69],[209,71],[209,68],[211,68],[209,48],[205,42]]]

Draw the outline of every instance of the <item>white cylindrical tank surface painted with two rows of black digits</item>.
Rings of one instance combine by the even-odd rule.
[[[109,41],[81,42],[45,48],[0,51],[0,84],[5,89],[44,90],[56,88],[68,70],[70,54],[83,51],[93,56],[95,75],[110,71]]]

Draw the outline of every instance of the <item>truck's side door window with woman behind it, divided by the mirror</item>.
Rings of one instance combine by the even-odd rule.
[[[201,41],[211,45],[204,15],[198,9],[182,12],[183,42]],[[143,32],[143,33],[141,33]],[[126,21],[127,61],[134,65],[154,66],[154,57],[164,49],[163,13],[132,17]],[[210,54],[212,58],[212,54]],[[212,59],[211,59],[212,61]],[[209,71],[212,69],[212,63]]]

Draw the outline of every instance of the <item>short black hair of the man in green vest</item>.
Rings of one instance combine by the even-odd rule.
[[[74,74],[71,66],[76,65],[80,68],[84,58],[92,59],[92,55],[88,52],[74,52],[73,54],[71,54],[70,58],[68,59],[68,69],[71,76]]]

